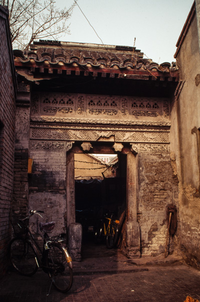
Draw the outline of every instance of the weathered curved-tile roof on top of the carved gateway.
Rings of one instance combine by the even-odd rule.
[[[45,41],[46,42],[46,41]],[[143,53],[134,47],[112,46],[103,47],[98,44],[57,42],[44,43],[40,41],[31,46],[31,51],[15,51],[14,55],[22,63],[28,63],[34,59],[37,63],[43,63],[45,60],[50,65],[56,65],[60,61],[66,66],[77,63],[80,66],[90,64],[93,67],[103,68],[123,68],[123,69],[156,69],[160,72],[169,72],[177,70],[176,66],[164,62],[158,64],[151,59],[143,58]],[[64,44],[62,44],[64,43]]]

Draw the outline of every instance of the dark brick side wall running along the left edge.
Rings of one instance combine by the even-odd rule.
[[[15,148],[15,73],[8,12],[0,6],[0,275],[8,266]]]

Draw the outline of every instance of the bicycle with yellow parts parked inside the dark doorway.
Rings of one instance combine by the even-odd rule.
[[[108,225],[106,227],[105,219],[108,219]],[[104,217],[101,219],[101,224],[98,230],[95,232],[95,242],[101,242],[103,236],[106,237],[106,247],[108,249],[114,248],[118,238],[118,224],[119,220],[114,219],[113,213],[111,217]]]

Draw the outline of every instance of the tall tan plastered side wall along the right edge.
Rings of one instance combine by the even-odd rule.
[[[184,259],[200,269],[200,54],[195,14],[176,60],[182,83],[171,111],[170,150],[179,179],[180,247]]]

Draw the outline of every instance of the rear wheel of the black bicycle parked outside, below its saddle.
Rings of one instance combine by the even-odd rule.
[[[73,283],[73,271],[67,260],[62,246],[51,243],[50,249],[47,250],[46,266],[54,286],[62,292],[68,291]]]

